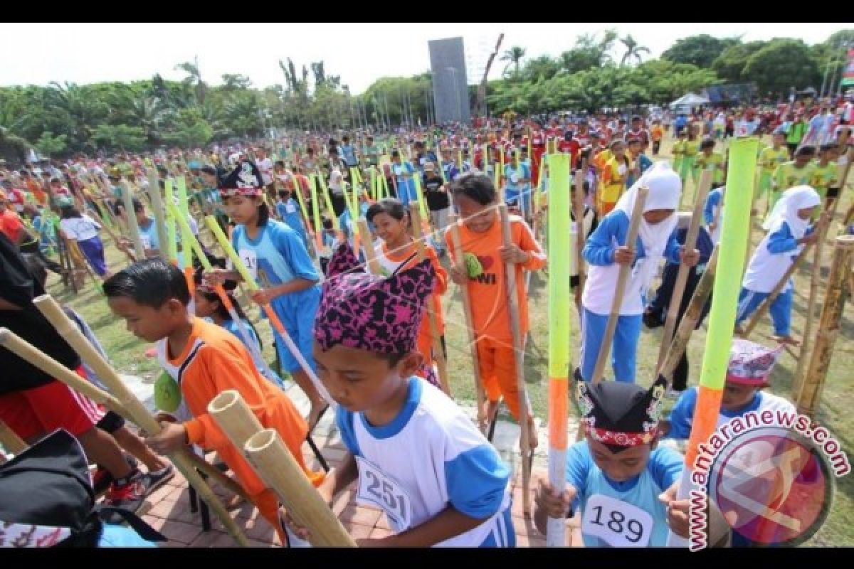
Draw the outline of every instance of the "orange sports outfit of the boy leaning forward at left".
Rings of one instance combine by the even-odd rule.
[[[237,336],[213,322],[194,318],[184,351],[178,357],[169,357],[169,363],[182,369],[178,383],[193,415],[184,423],[188,440],[216,450],[250,496],[265,491],[266,484],[208,415],[208,404],[227,389],[240,393],[264,428],[276,430],[313,485],[323,481],[323,474],[309,470],[302,457],[302,444],[308,433],[306,421],[288,396],[261,376]]]

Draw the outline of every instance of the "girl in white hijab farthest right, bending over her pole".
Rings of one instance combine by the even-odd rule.
[[[816,241],[816,234],[810,226],[810,218],[816,207],[822,205],[822,198],[810,186],[795,186],[787,189],[775,204],[763,229],[768,231],[756,247],[747,265],[744,282],[741,283],[739,309],[735,317],[736,331],[740,331],[741,322],[756,311],[774,290],[774,287],[798,256],[805,243]],[[792,320],[793,282],[789,279],[786,288],[770,306],[771,320],[774,322],[774,338],[781,343],[794,344],[789,334]]]

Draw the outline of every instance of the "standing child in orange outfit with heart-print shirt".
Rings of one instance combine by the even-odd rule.
[[[522,218],[510,216],[510,247],[502,245],[501,224],[496,208],[498,199],[492,181],[481,174],[464,174],[454,180],[451,191],[453,203],[459,210],[462,224],[460,241],[465,259],[456,258],[453,240],[445,233],[447,250],[451,252],[453,282],[468,287],[471,298],[471,320],[477,337],[477,358],[480,362],[481,380],[488,398],[487,416],[492,417],[504,397],[511,414],[518,421],[519,393],[507,306],[505,270],[503,264],[512,263],[516,269],[520,333],[528,334],[528,297],[524,290],[522,270],[539,270],[546,266],[542,252],[530,228]],[[477,259],[474,262],[473,259]],[[471,259],[471,260],[470,260]],[[467,268],[477,266],[475,274]],[[528,414],[532,428],[531,448],[537,444],[533,414]]]

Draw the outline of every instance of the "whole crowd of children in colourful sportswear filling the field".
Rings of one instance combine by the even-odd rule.
[[[754,200],[766,200],[763,229],[768,233],[747,264],[738,324],[780,282],[799,250],[816,240],[811,225],[816,214],[839,197],[838,145],[828,141],[817,148],[787,148],[794,128],[782,125],[758,156]],[[283,543],[294,536],[310,539],[307,528],[281,510],[278,497],[208,414],[213,398],[234,389],[262,426],[283,438],[326,502],[366,477],[384,489],[383,499],[371,491],[373,486],[360,484],[358,499],[383,510],[391,535],[362,538],[360,545],[513,547],[511,468],[442,392],[437,377],[436,364],[447,358],[442,295],[453,282],[465,287],[471,299],[473,347],[486,394],[478,411],[494,417],[503,402],[518,421],[526,401],[517,377],[524,346],[522,353],[513,347],[508,271],[516,277],[516,290],[509,294],[518,304],[524,339],[530,328],[524,276],[547,267],[532,229],[546,206],[539,199],[549,189],[545,156],[564,152],[582,173],[586,212],[582,256],[588,271],[580,291],[575,384],[585,440],[568,451],[567,491],[559,495],[545,483],[538,489],[535,525],[545,531],[547,516],[577,513],[587,547],[663,546],[669,532],[687,535],[688,505],[676,497],[684,458],[672,445],[658,444],[659,438],[687,438],[698,395],[696,388],[687,388],[684,356],[672,385],[661,379],[648,389],[635,385],[640,324],[654,328],[664,322],[678,267],[691,267],[691,290],[720,238],[728,167],[721,141],[728,129],[723,113],[708,124],[686,121],[673,133],[672,164],[654,163],[646,155],[652,147],[652,156],[658,156],[668,133],[661,119],[647,127],[640,116],[580,119],[571,125],[531,121],[499,125],[493,132],[486,128],[474,136],[430,133],[412,143],[403,137],[395,141],[397,148],[375,144],[370,136],[355,142],[344,136],[340,144],[333,139],[325,148],[308,139],[301,147],[295,137],[281,154],[272,148],[270,158],[264,149],[223,148],[213,156],[195,153],[178,171],[170,171],[169,159],[149,162],[160,166],[169,184],[184,176],[196,213],[212,214],[229,229],[237,256],[259,287],[251,299],[269,305],[283,326],[272,326],[281,374],[306,393],[311,403],[307,417],[284,393],[282,377],[259,359],[260,334],[230,292],[243,280],[238,267],[208,256],[213,270],[196,268],[195,278],[188,281],[178,269],[183,257],[175,259],[178,266],[165,260],[167,244],[160,242],[159,222],[147,212],[152,202],[141,191],[148,183],[139,176],[144,161],[130,165],[130,171],[114,166],[98,172],[97,166],[86,165],[68,174],[64,184],[58,177],[44,186],[30,180],[25,187],[41,206],[41,224],[50,206],[56,206],[56,236],[75,241],[102,277],[109,308],[126,321],[128,331],[156,344],[159,363],[180,394],[180,409],[160,415],[161,433],[139,438],[118,415],[110,424],[103,422],[96,404],[0,350],[15,378],[29,378],[3,384],[0,419],[29,441],[55,427],[69,430],[102,466],[102,476],[113,480],[108,499],[129,508],[171,476],[161,455],[189,444],[216,450]],[[704,227],[696,249],[687,251],[679,210],[686,189],[696,189],[703,171],[711,171],[712,183]],[[122,183],[122,178],[140,189],[132,197],[131,214],[147,258],[112,274],[99,234],[104,225],[124,236],[132,232],[120,198],[133,184]],[[21,180],[15,177],[15,183]],[[165,188],[161,184],[154,191]],[[629,242],[640,188],[646,189],[646,198],[637,238]],[[45,273],[38,258],[20,256],[19,247],[27,240],[20,216],[27,217],[28,201],[21,191],[0,195],[0,325],[97,380],[32,305],[32,298],[44,292]],[[509,235],[500,223],[502,203],[512,207]],[[411,208],[429,212],[422,220],[428,229],[424,247],[419,247]],[[451,212],[461,218],[454,229],[462,257],[448,228]],[[358,224],[361,219],[366,224]],[[188,222],[195,234],[192,216]],[[38,242],[43,236],[41,230],[30,235]],[[189,243],[177,253],[189,258]],[[662,261],[667,263],[663,283],[653,295]],[[615,298],[623,267],[629,268],[629,279],[622,298]],[[789,282],[770,307],[779,344],[794,342],[792,295]],[[689,297],[690,292],[682,300],[680,319]],[[616,381],[600,382],[594,368],[612,311],[617,314],[611,354]],[[97,342],[82,318],[74,317]],[[760,391],[769,385],[781,349],[734,340],[722,421],[751,410],[791,408],[784,399]],[[668,396],[678,400],[664,419],[661,408]],[[325,475],[307,467],[301,445],[330,405],[347,452],[340,466]],[[527,442],[535,447],[540,441],[533,409],[528,411]],[[121,449],[136,456],[149,473],[141,473]],[[621,522],[619,529],[608,523],[617,519],[634,523]],[[730,536],[728,526],[722,526],[726,531],[712,542],[743,544],[737,532]]]

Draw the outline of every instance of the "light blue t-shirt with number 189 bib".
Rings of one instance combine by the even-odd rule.
[[[663,547],[669,527],[667,508],[658,496],[681,476],[684,459],[675,450],[652,450],[646,468],[633,479],[617,482],[596,466],[588,441],[566,453],[566,482],[582,509],[585,547]]]

